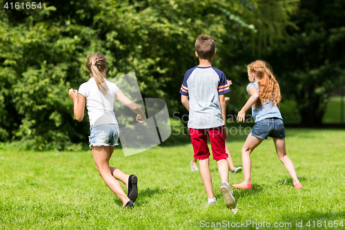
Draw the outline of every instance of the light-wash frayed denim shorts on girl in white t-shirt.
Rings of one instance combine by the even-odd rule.
[[[88,137],[91,146],[115,146],[118,145],[120,129],[118,124],[100,124],[92,126]]]

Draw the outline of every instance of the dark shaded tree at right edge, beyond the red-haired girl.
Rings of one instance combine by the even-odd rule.
[[[306,126],[321,124],[331,92],[345,84],[344,10],[344,0],[301,1],[292,18],[299,30],[267,56]]]

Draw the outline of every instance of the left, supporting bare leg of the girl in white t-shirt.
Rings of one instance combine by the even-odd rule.
[[[113,150],[113,149],[112,149]],[[103,178],[109,189],[117,195],[117,197],[125,205],[130,199],[127,197],[120,183],[112,176],[109,166],[110,149],[109,146],[92,146],[92,155],[99,174]]]

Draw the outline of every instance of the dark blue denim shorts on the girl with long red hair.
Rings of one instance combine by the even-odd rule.
[[[285,138],[283,120],[277,117],[262,119],[255,123],[250,134],[261,139],[267,139],[267,137]]]

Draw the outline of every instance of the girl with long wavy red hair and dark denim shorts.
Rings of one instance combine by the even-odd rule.
[[[267,137],[273,137],[279,160],[284,164],[290,177],[293,178],[295,189],[302,189],[303,186],[297,178],[295,166],[288,155],[286,155],[285,128],[279,111],[281,99],[279,84],[266,61],[254,61],[247,66],[247,70],[250,82],[247,86],[247,92],[250,97],[242,110],[239,111],[237,119],[239,122],[243,122],[246,111],[252,107],[255,125],[242,147],[244,182],[233,184],[233,187],[237,189],[252,188],[250,153]]]

